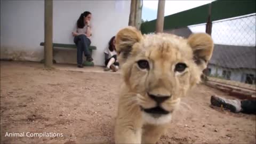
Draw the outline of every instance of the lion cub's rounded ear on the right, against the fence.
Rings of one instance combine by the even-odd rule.
[[[212,57],[213,41],[210,35],[205,33],[192,34],[188,37],[188,44],[193,50],[196,64],[204,70]]]

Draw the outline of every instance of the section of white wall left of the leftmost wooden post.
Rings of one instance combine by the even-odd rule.
[[[43,58],[44,1],[1,1],[1,59]]]

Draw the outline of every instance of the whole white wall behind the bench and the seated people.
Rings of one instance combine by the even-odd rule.
[[[92,13],[95,65],[103,65],[109,39],[128,25],[130,1],[53,1],[53,42],[73,44],[81,13]],[[44,1],[1,1],[1,58],[40,61],[44,47]],[[76,50],[58,50],[55,60],[76,63]]]

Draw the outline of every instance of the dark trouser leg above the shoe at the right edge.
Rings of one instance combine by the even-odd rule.
[[[242,113],[256,114],[256,100],[242,100],[241,107]]]

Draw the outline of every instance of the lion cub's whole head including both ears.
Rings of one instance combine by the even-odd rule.
[[[116,49],[127,89],[149,123],[170,121],[171,113],[200,76],[213,51],[207,34],[184,39],[171,34],[142,36],[127,27],[116,35]]]

